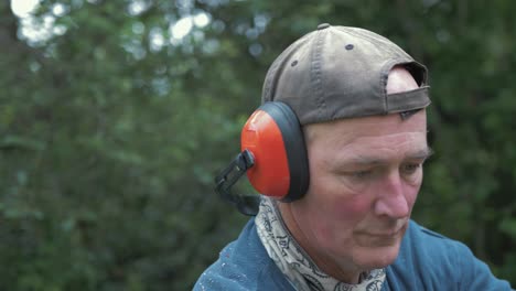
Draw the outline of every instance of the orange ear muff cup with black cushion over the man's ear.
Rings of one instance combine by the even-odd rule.
[[[241,150],[252,153],[255,165],[247,176],[259,193],[283,202],[305,194],[310,174],[303,131],[287,104],[266,103],[249,117]]]

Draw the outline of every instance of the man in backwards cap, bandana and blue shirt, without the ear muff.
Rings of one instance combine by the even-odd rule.
[[[430,99],[426,67],[396,44],[321,24],[275,61],[262,101],[299,120],[310,182],[295,198],[265,191],[195,290],[510,290],[466,246],[410,220]]]

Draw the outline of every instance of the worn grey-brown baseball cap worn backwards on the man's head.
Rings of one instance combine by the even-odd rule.
[[[387,77],[404,66],[419,88],[387,94]],[[430,104],[427,68],[386,37],[357,28],[321,24],[272,63],[262,103],[288,104],[301,125],[407,112]]]

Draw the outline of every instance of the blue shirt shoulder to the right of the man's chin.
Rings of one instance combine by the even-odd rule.
[[[464,244],[410,222],[386,290],[510,290]]]

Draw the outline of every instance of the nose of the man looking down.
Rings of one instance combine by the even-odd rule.
[[[394,173],[386,176],[378,191],[379,195],[374,205],[376,215],[405,218],[410,214],[404,181],[398,171],[394,171]]]

